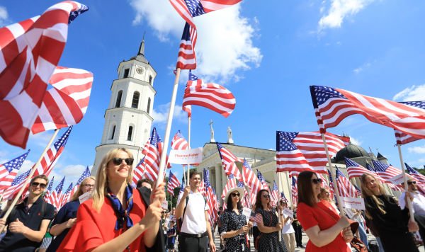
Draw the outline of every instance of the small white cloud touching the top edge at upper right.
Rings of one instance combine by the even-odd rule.
[[[340,28],[344,19],[354,16],[374,0],[330,0],[322,1],[320,13],[324,14],[319,20],[319,31],[326,28]]]

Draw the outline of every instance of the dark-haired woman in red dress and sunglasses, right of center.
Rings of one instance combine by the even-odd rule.
[[[321,182],[311,171],[298,176],[297,219],[309,238],[305,251],[351,252],[346,244],[353,239],[348,218],[339,216],[329,202],[318,199]]]

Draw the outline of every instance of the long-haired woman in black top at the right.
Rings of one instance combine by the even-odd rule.
[[[385,252],[418,251],[410,234],[418,227],[416,222],[409,222],[409,210],[401,210],[394,197],[385,195],[382,183],[371,174],[361,176],[361,190],[366,221],[378,234]]]

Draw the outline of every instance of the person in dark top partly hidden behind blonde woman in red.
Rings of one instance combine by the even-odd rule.
[[[77,192],[72,195],[71,200],[57,212],[50,228],[50,234],[56,236],[56,238],[53,239],[49,248],[47,248],[47,252],[57,251],[57,248],[59,248],[65,236],[67,236],[69,229],[77,222],[77,210],[80,205],[79,197],[84,193],[93,192],[95,181],[96,178],[94,176],[84,178]]]

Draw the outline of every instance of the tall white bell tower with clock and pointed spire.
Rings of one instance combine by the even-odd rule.
[[[105,111],[101,144],[96,147],[91,172],[94,175],[103,156],[115,148],[130,149],[136,163],[133,165],[137,165],[151,131],[157,72],[145,58],[145,40],[140,43],[137,55],[120,62],[117,71],[118,79],[112,82],[111,101]]]

